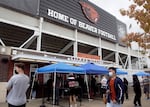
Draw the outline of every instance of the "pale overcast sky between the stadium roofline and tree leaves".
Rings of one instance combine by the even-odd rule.
[[[127,16],[122,16],[119,12],[121,8],[128,9],[131,2],[129,0],[89,0],[103,10],[114,15],[118,20],[126,23],[128,32],[142,32],[134,19],[129,19]],[[132,24],[131,29],[129,29]]]

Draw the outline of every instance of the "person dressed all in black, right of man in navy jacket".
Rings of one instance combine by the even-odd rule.
[[[133,89],[134,89],[134,93],[135,93],[134,106],[141,107],[142,92],[141,92],[141,85],[140,85],[137,75],[133,75]],[[138,105],[137,105],[137,103],[138,103]]]

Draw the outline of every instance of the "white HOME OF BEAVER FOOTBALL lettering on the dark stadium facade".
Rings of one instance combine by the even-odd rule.
[[[52,17],[54,19],[63,21],[65,23],[69,23],[71,25],[78,26],[79,28],[82,28],[84,30],[88,30],[92,33],[95,33],[95,34],[98,34],[98,35],[101,35],[101,36],[104,36],[106,38],[109,38],[109,39],[112,39],[112,40],[116,41],[116,36],[115,35],[110,34],[106,31],[101,30],[101,29],[98,29],[98,28],[96,28],[94,26],[91,26],[89,24],[86,24],[84,22],[81,22],[81,21],[79,21],[77,19],[74,19],[72,17],[69,17],[67,15],[64,15],[62,13],[59,13],[55,10],[48,9],[48,16]]]

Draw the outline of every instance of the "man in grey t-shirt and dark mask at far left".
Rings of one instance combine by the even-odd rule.
[[[8,81],[8,107],[26,106],[26,91],[29,87],[29,77],[24,74],[24,69],[25,65],[23,63],[15,64],[15,70],[18,74],[13,75]]]

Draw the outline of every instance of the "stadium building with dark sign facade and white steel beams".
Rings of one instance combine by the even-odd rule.
[[[126,33],[123,22],[87,0],[0,0],[0,82],[16,62],[30,77],[55,62],[142,69],[144,56],[121,41]]]

